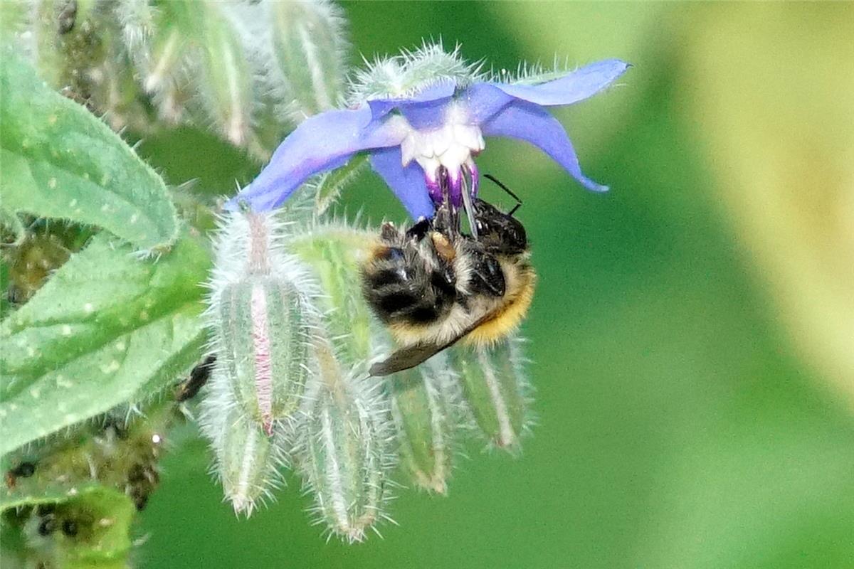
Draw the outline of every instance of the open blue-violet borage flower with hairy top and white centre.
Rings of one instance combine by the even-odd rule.
[[[442,200],[462,206],[477,195],[473,157],[483,136],[535,145],[594,191],[608,188],[584,176],[569,136],[545,107],[570,105],[603,90],[629,67],[599,61],[537,83],[488,80],[459,52],[425,46],[377,61],[357,76],[351,107],[306,119],[278,147],[269,165],[227,205],[263,212],[279,206],[313,174],[368,152],[371,165],[412,218],[430,218]]]

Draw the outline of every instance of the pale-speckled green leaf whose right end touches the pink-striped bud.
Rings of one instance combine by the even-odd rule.
[[[156,261],[97,235],[0,324],[0,455],[167,386],[202,356],[208,252]]]

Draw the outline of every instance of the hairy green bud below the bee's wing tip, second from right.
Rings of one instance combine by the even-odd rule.
[[[388,382],[401,468],[416,485],[444,494],[461,406],[456,374],[447,357],[437,354]]]

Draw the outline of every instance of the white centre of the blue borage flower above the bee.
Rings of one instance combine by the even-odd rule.
[[[442,126],[430,131],[418,131],[407,124],[407,136],[401,142],[402,165],[415,160],[429,177],[435,176],[440,165],[448,171],[460,171],[471,154],[485,146],[480,127],[469,124],[465,114],[456,105],[448,107]]]

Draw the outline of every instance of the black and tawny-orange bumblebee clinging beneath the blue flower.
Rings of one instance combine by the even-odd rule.
[[[536,281],[517,208],[504,213],[472,200],[477,239],[459,231],[447,204],[407,230],[383,224],[362,269],[363,292],[401,348],[371,375],[415,367],[459,340],[488,345],[517,328]]]

